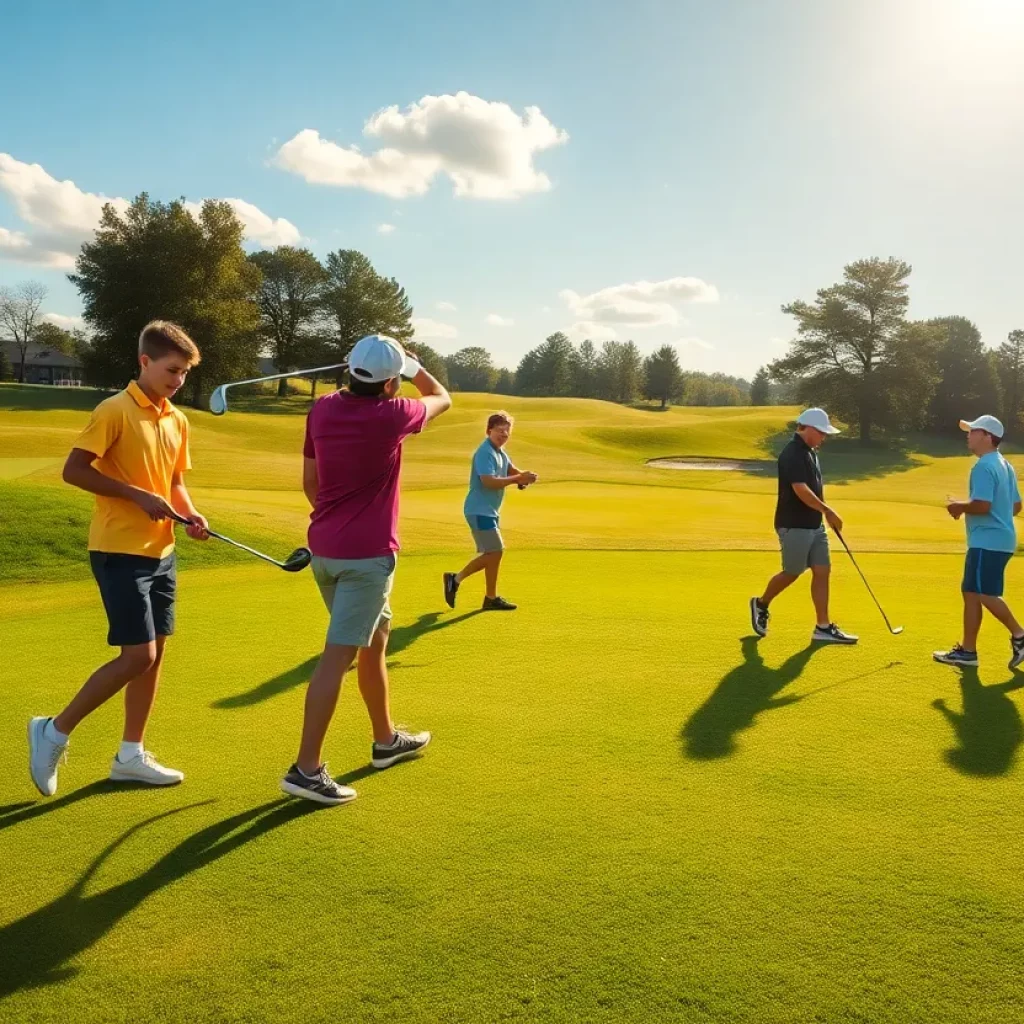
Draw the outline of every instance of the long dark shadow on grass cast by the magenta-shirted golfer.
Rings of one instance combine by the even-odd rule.
[[[154,815],[114,840],[62,896],[0,928],[0,999],[22,988],[51,985],[77,973],[76,956],[89,949],[154,893],[186,874],[219,860],[246,843],[311,813],[307,802],[274,800],[234,814],[182,840],[138,878],[89,892],[105,861],[146,825],[182,811],[203,807],[203,801]]]

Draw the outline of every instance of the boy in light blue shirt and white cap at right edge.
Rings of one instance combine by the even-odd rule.
[[[964,566],[964,640],[947,651],[936,651],[936,662],[974,668],[978,665],[978,631],[987,608],[1010,631],[1010,668],[1024,662],[1024,628],[1002,600],[1007,565],[1017,550],[1014,518],[1020,515],[1021,494],[1014,467],[1002,458],[1002,424],[994,416],[968,422],[967,446],[978,461],[971,469],[971,497],[952,501],[946,511],[967,519],[967,560]]]

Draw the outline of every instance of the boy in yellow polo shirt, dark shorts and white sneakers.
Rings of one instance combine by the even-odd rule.
[[[29,767],[44,797],[56,793],[57,764],[72,731],[120,690],[125,728],[111,778],[151,785],[184,778],[161,765],[142,739],[164,644],[174,632],[171,514],[189,520],[195,540],[209,537],[184,484],[191,467],[188,421],[170,402],[199,360],[196,343],[177,325],[147,324],[138,339],[138,380],[96,407],[65,464],[65,481],[96,496],[89,561],[110,624],[108,643],[121,653],[97,669],[55,718],[29,722]]]

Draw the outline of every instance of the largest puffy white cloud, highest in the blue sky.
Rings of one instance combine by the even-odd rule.
[[[456,196],[518,199],[551,187],[534,158],[568,140],[537,106],[520,115],[508,103],[468,92],[427,95],[403,112],[388,106],[367,121],[362,134],[380,148],[365,154],[305,128],[278,151],[273,163],[310,184],[366,188],[393,199],[422,196],[441,174]]]

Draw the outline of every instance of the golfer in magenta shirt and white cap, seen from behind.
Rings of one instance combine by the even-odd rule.
[[[373,725],[373,766],[389,768],[430,742],[429,732],[395,730],[385,655],[398,553],[401,445],[450,409],[452,398],[384,335],[356,342],[348,374],[348,388],[316,401],[306,420],[302,488],[313,507],[309,549],[331,624],[306,691],[299,756],[281,782],[285,793],[321,804],[355,799],[354,790],[331,777],[322,753],[342,678],[356,659]],[[419,398],[398,397],[402,377],[412,380]]]

